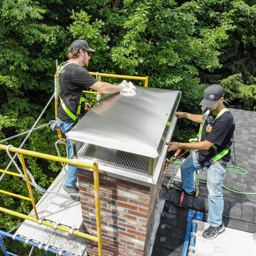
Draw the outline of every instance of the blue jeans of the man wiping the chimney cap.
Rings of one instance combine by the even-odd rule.
[[[68,123],[68,122],[64,122],[61,125],[61,131],[63,133],[65,133],[70,127],[71,125],[73,125],[73,123]],[[72,144],[72,140],[68,139],[67,140],[67,151],[69,154],[69,158],[71,158],[74,154],[73,151],[73,144]],[[67,170],[67,177],[65,180],[65,186],[70,187],[70,186],[75,186],[76,182],[77,182],[77,168],[73,167],[73,166],[68,166],[68,170]]]

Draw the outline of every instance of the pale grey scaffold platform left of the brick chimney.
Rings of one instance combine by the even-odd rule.
[[[66,194],[62,188],[66,178],[66,171],[63,168],[61,173],[55,178],[47,191]],[[47,221],[58,222],[66,227],[75,227],[81,230],[82,212],[80,201],[74,201],[70,195],[58,195],[46,193],[36,204],[39,218]],[[34,210],[29,216],[35,217]],[[70,235],[61,230],[54,230],[52,227],[39,225],[29,220],[23,221],[23,224],[15,233],[24,238],[31,238],[36,242],[43,242],[50,247],[65,250],[79,256],[87,255],[85,239],[76,235]]]

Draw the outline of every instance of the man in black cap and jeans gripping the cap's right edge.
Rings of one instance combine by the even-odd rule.
[[[206,107],[203,115],[176,112],[177,118],[185,117],[202,124],[197,142],[167,143],[168,151],[177,148],[192,149],[189,157],[180,165],[182,182],[174,181],[176,189],[188,194],[195,192],[194,172],[207,167],[207,189],[209,215],[207,222],[210,226],[204,230],[205,239],[213,239],[224,232],[222,212],[224,200],[222,184],[226,174],[225,167],[230,161],[230,146],[233,143],[235,121],[230,111],[223,104],[224,93],[218,84],[212,84],[204,90],[204,99],[200,105]],[[196,140],[196,139],[195,139]]]

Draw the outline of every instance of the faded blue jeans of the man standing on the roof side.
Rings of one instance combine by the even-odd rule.
[[[225,162],[228,164],[229,162]],[[180,165],[182,188],[186,192],[192,192],[195,189],[194,172],[201,169],[195,152],[189,154],[189,157]],[[209,214],[207,222],[212,227],[219,227],[222,223],[222,213],[224,200],[222,195],[222,184],[226,175],[225,169],[216,162],[210,165],[207,172],[207,189]]]

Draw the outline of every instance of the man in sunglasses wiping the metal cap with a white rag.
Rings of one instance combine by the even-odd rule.
[[[116,93],[122,91],[127,85],[113,85],[96,80],[84,68],[88,67],[90,55],[95,52],[87,41],[78,39],[68,48],[69,60],[62,64],[59,75],[59,99],[57,105],[57,120],[53,121],[51,128],[60,128],[63,133],[69,131],[79,119],[85,115],[85,110],[91,106],[85,102],[83,90],[92,88],[101,93]],[[73,156],[72,140],[67,141],[69,157]],[[67,177],[63,185],[64,190],[71,194],[71,198],[80,201],[79,188],[76,186],[78,170],[68,166]]]

